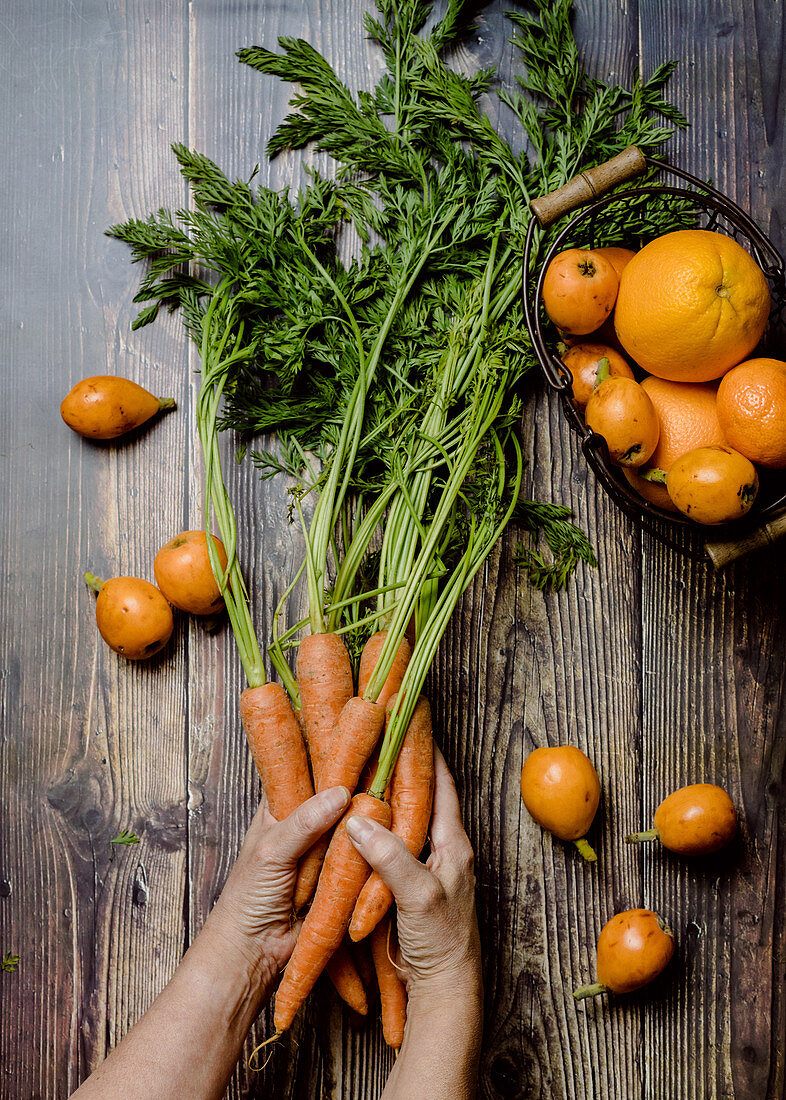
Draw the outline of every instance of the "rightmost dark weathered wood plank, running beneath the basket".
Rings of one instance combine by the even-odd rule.
[[[673,94],[693,125],[672,156],[777,237],[784,100],[774,80],[779,6],[642,4],[642,68],[680,61]],[[701,42],[701,48],[695,44]],[[783,238],[779,243],[783,245]],[[728,858],[642,854],[647,895],[673,923],[682,965],[645,1016],[654,1096],[783,1096],[783,574],[777,554],[716,578],[649,539],[643,548],[645,817],[683,783],[728,785],[744,814]],[[779,1027],[779,1030],[778,1030]],[[682,1057],[688,1048],[690,1059]]]

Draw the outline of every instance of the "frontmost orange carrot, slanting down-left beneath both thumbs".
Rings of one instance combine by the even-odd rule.
[[[346,821],[362,814],[390,825],[390,806],[370,794],[356,794],[339,822],[328,848],[313,904],[276,993],[276,1032],[285,1032],[344,938],[352,911],[370,868],[346,833]]]

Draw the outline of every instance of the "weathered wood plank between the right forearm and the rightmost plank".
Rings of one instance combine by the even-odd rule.
[[[582,6],[577,29],[590,72],[630,77],[635,40],[623,11]],[[503,79],[516,66],[508,55]],[[556,400],[533,386],[522,432],[528,492],[575,508],[600,568],[580,571],[566,593],[543,596],[511,568],[509,535],[449,631],[432,678],[479,858],[489,945],[480,1091],[640,1094],[640,1014],[577,1009],[571,996],[591,972],[602,923],[641,882],[620,844],[621,823],[635,816],[640,799],[639,542],[588,473]],[[595,867],[542,834],[521,805],[525,755],[566,743],[589,754],[604,783]]]

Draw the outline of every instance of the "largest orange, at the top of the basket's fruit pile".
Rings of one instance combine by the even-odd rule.
[[[745,359],[770,316],[756,262],[724,233],[683,229],[644,245],[620,278],[615,326],[650,374],[709,382]]]

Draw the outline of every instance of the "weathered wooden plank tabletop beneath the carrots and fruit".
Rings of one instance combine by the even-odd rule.
[[[4,185],[0,234],[0,1093],[65,1097],[150,1004],[201,926],[257,802],[226,631],[185,619],[145,667],[98,638],[80,582],[150,576],[159,543],[201,522],[195,360],[177,318],[133,333],[136,273],[103,229],[185,189],[182,140],[230,173],[292,179],[264,140],[288,91],[234,61],[246,44],[308,37],[351,82],[378,57],[366,0],[5,0],[0,11]],[[510,81],[502,2],[461,57]],[[751,210],[781,245],[784,8],[774,0],[580,0],[591,72],[629,79],[669,57],[693,122],[668,155]],[[91,446],[58,404],[87,374],[129,375],[179,410],[128,444]],[[763,1100],[784,1094],[786,796],[783,551],[723,576],[642,536],[605,498],[556,405],[533,393],[524,431],[534,495],[571,504],[597,571],[561,595],[512,565],[516,531],[447,632],[431,683],[440,741],[478,854],[486,971],[483,1097]],[[253,517],[243,559],[264,632],[298,561],[285,486],[229,465]],[[536,745],[574,741],[601,774],[597,867],[534,827],[518,782]],[[740,842],[707,862],[631,849],[660,799],[728,787]],[[121,828],[139,847],[110,839]],[[676,928],[652,991],[576,1007],[597,934],[644,904]],[[230,1094],[378,1096],[391,1065],[377,1025],[322,990],[265,1072]],[[424,1086],[423,1097],[428,1097]]]

